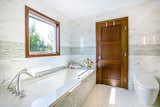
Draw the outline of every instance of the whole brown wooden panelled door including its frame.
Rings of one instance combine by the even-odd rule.
[[[128,88],[128,17],[96,23],[97,83]]]

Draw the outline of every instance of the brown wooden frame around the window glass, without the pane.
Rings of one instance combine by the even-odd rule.
[[[39,17],[43,21],[56,25],[56,52],[54,53],[30,53],[30,35],[29,35],[29,14],[33,14],[36,17]],[[25,6],[25,55],[26,57],[43,57],[43,56],[58,56],[60,55],[60,22],[28,7]]]

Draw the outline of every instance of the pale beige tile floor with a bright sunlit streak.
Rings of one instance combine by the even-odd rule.
[[[134,91],[97,84],[83,107],[160,107],[158,105],[140,104]]]

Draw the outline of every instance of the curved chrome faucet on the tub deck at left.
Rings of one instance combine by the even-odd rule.
[[[30,76],[30,77],[33,77],[29,72],[27,72],[28,70],[25,68],[25,69],[22,69],[20,72],[18,72],[15,76],[14,76],[14,78],[11,80],[11,82],[9,83],[9,85],[8,85],[8,89],[10,90],[10,91],[12,91],[12,93],[13,94],[16,94],[16,96],[21,96],[21,97],[23,97],[23,96],[25,96],[25,94],[24,94],[24,90],[21,90],[21,88],[20,88],[20,77],[21,77],[21,75],[22,74],[26,74],[26,75],[28,75],[28,76]],[[11,85],[13,84],[13,82],[16,80],[16,88],[14,89],[14,88],[11,88]]]

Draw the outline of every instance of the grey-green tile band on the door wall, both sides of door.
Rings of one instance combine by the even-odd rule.
[[[95,47],[72,47],[72,55],[95,55]],[[131,45],[129,46],[129,55],[148,55],[160,56],[160,44],[158,45]]]

